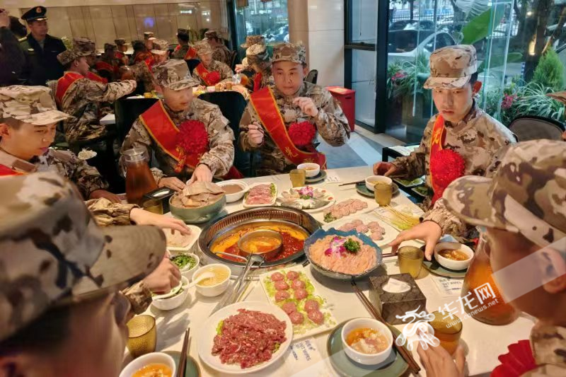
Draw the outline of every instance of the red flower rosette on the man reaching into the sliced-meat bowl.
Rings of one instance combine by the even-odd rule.
[[[195,155],[200,158],[208,151],[208,132],[204,123],[200,120],[185,120],[179,126],[176,144],[180,156],[175,172],[180,173],[188,156]]]

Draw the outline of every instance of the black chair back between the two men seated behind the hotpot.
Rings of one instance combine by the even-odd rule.
[[[199,99],[218,105],[222,115],[230,121],[230,127],[235,139],[234,149],[236,150],[234,166],[246,177],[252,176],[250,153],[242,151],[238,142],[240,138],[240,120],[244,110],[246,110],[246,105],[248,105],[243,95],[236,91],[213,92],[203,93],[199,96]]]

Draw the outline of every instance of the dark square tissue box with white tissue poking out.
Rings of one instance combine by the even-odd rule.
[[[403,324],[396,315],[408,311],[427,310],[427,298],[410,274],[394,274],[369,278],[369,301],[391,325]]]

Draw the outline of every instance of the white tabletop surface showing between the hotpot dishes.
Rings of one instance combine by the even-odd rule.
[[[331,192],[335,196],[337,202],[355,197],[375,204],[373,198],[359,195],[355,185],[340,186],[342,183],[364,180],[367,176],[372,175],[371,166],[329,169],[326,170],[326,172],[327,178],[323,182],[309,185],[313,187],[323,187],[325,190],[328,190],[328,192]],[[248,184],[254,182],[273,182],[277,185],[279,192],[291,188],[291,181],[289,180],[288,174],[246,178],[244,181]],[[410,209],[415,214],[422,214],[420,208],[417,207],[416,204],[413,204],[403,192],[393,197],[391,206],[394,208]],[[226,204],[225,211],[232,213],[241,209],[243,209],[243,204],[240,200]],[[207,224],[200,224],[201,227],[206,225]],[[405,242],[402,245],[420,247],[423,243],[419,240],[413,240]],[[197,244],[195,247],[197,247]],[[390,254],[391,247],[383,248],[382,253],[383,255]],[[381,274],[386,273],[391,275],[399,273],[396,256],[383,257],[381,267],[383,267],[379,269],[379,271],[381,271],[379,273]],[[313,270],[311,265],[305,267],[305,272],[311,281],[316,282],[318,294],[328,301],[328,307],[335,316],[337,323],[342,323],[352,318],[371,317],[369,311],[366,310],[362,302],[356,294],[354,294],[350,282],[324,277]],[[451,304],[452,307],[457,307],[458,304],[456,300],[460,296],[459,291],[451,291],[451,294],[446,294],[446,291],[442,291],[439,288],[439,283],[435,282],[435,279],[438,279],[438,277],[424,268],[421,269],[420,275],[415,279],[422,294],[427,298],[426,310],[432,313],[444,307],[445,304]],[[454,280],[461,281],[462,279]],[[364,291],[364,294],[368,294],[368,279],[359,280],[357,285]],[[195,288],[190,288],[190,293],[183,305],[172,311],[160,311],[154,308],[154,306],[150,306],[146,314],[153,315],[156,318],[156,351],[180,352],[180,349],[183,347],[183,334],[186,328],[190,327],[191,342],[189,354],[196,361],[198,369],[200,370],[200,376],[224,376],[224,374],[204,364],[198,353],[202,324],[209,318],[213,308],[220,299],[221,296],[212,298],[201,296],[197,294]],[[241,296],[241,301],[269,302],[260,282],[257,280],[250,282],[248,288]],[[459,316],[462,318],[461,315]],[[509,344],[518,342],[519,340],[529,339],[529,332],[531,327],[533,327],[533,318],[529,315],[521,314],[513,323],[499,326],[487,325],[473,318],[463,319],[462,323],[463,331],[460,342],[466,350],[466,375],[488,376],[490,371],[499,364],[497,357],[508,352],[507,346]],[[404,326],[405,325],[395,325],[398,330],[403,330]],[[287,354],[278,359],[274,364],[256,373],[246,373],[246,376],[340,376],[340,373],[335,370],[330,363],[327,347],[329,333],[330,332],[323,332],[312,338],[306,338],[317,350],[316,360],[311,362],[307,369],[296,370],[295,364],[289,363],[289,358],[292,356],[289,354],[291,351],[288,349]],[[412,354],[421,366],[420,375],[426,376],[427,373],[417,355],[416,347],[412,350]],[[318,357],[318,355],[320,355],[320,357]],[[128,357],[127,350],[125,357],[126,359]],[[405,375],[409,375],[409,373],[410,372],[407,371]]]

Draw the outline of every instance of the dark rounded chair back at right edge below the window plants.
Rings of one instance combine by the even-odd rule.
[[[536,115],[524,115],[516,117],[510,124],[509,129],[518,141],[551,139],[562,140],[564,124],[545,117]]]

